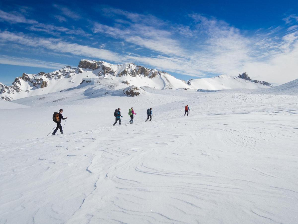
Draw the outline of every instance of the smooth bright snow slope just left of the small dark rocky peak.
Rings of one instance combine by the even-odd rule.
[[[220,90],[220,89],[265,89],[269,88],[266,85],[250,82],[245,79],[240,79],[236,76],[220,75],[214,78],[206,79],[190,79],[188,84],[193,89],[207,89],[207,90]]]

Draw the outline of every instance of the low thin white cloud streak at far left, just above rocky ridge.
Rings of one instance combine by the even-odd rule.
[[[7,55],[0,55],[0,64],[52,68],[52,69],[61,69],[67,66],[65,64],[60,64],[55,62],[45,62],[45,61],[40,61],[40,60],[35,60],[30,58],[13,57],[13,56],[7,56]]]

